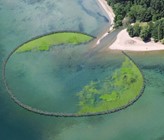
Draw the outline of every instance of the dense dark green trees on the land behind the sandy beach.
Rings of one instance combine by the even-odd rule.
[[[128,27],[130,36],[140,36],[144,41],[153,37],[155,41],[164,42],[164,0],[107,1],[116,15],[116,28],[123,24],[135,23]]]

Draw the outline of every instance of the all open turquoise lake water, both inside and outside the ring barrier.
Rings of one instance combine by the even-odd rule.
[[[95,0],[1,0],[0,63],[32,37],[63,30],[97,36],[108,26],[107,16]],[[75,93],[89,81],[111,75],[124,60],[121,52],[106,49],[105,43],[98,49],[91,46],[59,45],[49,52],[14,54],[7,65],[14,95],[43,110],[76,112]],[[16,105],[1,80],[0,139],[163,140],[164,51],[128,54],[140,65],[146,89],[134,105],[110,115],[40,116]]]

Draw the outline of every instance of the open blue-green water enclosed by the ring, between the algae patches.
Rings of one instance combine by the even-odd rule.
[[[78,112],[78,96],[91,81],[111,76],[120,66],[102,53],[90,54],[87,45],[60,45],[48,52],[15,53],[6,78],[13,94],[24,104],[49,112]],[[115,61],[115,62],[116,62]],[[112,66],[112,67],[111,67]]]

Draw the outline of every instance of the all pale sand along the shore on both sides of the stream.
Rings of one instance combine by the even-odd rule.
[[[99,4],[108,14],[108,17],[111,19],[111,24],[114,24],[114,17],[115,14],[112,8],[108,5],[106,0],[98,0]],[[112,30],[113,27],[110,30]],[[101,42],[101,40],[108,35],[108,32],[104,33],[98,40],[97,45]],[[128,51],[157,51],[157,50],[164,50],[164,45],[161,43],[155,42],[143,42],[140,38],[132,38],[127,33],[126,29],[122,30],[118,36],[116,41],[109,46],[112,50],[128,50]]]

